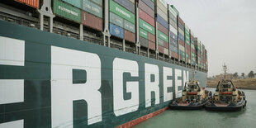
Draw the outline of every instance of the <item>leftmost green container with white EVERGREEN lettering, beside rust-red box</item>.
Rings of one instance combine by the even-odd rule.
[[[81,10],[59,0],[54,1],[54,13],[72,21],[81,22]]]

